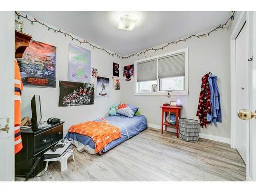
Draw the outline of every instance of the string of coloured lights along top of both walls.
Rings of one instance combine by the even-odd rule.
[[[29,20],[29,22],[31,23],[31,25],[34,25],[34,23],[38,23],[38,24],[40,24],[40,25],[42,25],[42,26],[45,26],[46,28],[48,28],[48,31],[50,31],[50,30],[53,30],[54,31],[54,33],[62,33],[62,34],[64,34],[65,36],[69,36],[69,37],[71,37],[72,38],[72,40],[76,40],[76,41],[78,41],[78,42],[80,42],[80,44],[88,44],[89,46],[91,46],[93,49],[94,48],[96,48],[96,49],[98,49],[98,50],[100,50],[100,51],[104,51],[106,54],[109,54],[109,55],[111,55],[111,56],[117,56],[118,58],[122,58],[122,59],[128,59],[128,58],[131,58],[131,57],[133,57],[133,56],[135,56],[135,55],[140,55],[140,54],[145,54],[146,52],[148,52],[148,51],[160,51],[160,50],[163,50],[163,48],[166,48],[167,46],[169,46],[169,45],[174,45],[174,43],[175,44],[177,44],[178,42],[181,42],[181,41],[185,41],[186,42],[186,40],[187,39],[189,39],[189,38],[192,38],[192,37],[198,37],[198,38],[200,38],[200,37],[206,37],[206,35],[208,35],[208,36],[210,36],[210,33],[212,33],[212,32],[215,32],[215,31],[217,31],[218,29],[224,29],[224,28],[229,28],[229,26],[227,26],[227,24],[228,24],[228,22],[231,20],[233,20],[234,19],[234,15],[235,15],[235,13],[236,13],[236,11],[231,11],[231,13],[232,13],[232,15],[227,19],[227,21],[226,21],[226,23],[224,23],[224,24],[220,24],[218,27],[216,27],[215,29],[212,29],[211,31],[209,31],[209,32],[207,32],[207,33],[204,33],[204,34],[200,34],[200,35],[190,35],[189,37],[186,37],[186,38],[184,38],[184,39],[179,39],[179,40],[177,40],[177,41],[171,41],[171,42],[167,42],[167,44],[166,45],[164,45],[164,46],[162,46],[162,47],[160,47],[160,48],[152,48],[152,49],[146,49],[145,51],[141,51],[141,52],[137,52],[137,53],[133,53],[133,54],[131,54],[131,55],[128,55],[128,56],[120,56],[120,55],[118,55],[118,54],[116,54],[116,53],[111,53],[111,52],[109,52],[108,50],[106,50],[106,49],[104,49],[104,48],[100,48],[100,47],[98,47],[98,46],[95,46],[95,45],[93,45],[93,44],[91,44],[90,42],[88,42],[87,40],[79,40],[79,39],[77,39],[77,38],[75,38],[75,37],[73,37],[71,34],[69,34],[69,33],[65,33],[65,32],[62,32],[62,31],[60,31],[60,30],[57,30],[57,29],[54,29],[54,28],[52,28],[52,27],[49,27],[49,26],[47,26],[46,24],[44,24],[44,23],[42,23],[42,22],[40,22],[39,20],[37,20],[37,19],[35,19],[35,18],[33,18],[33,20],[31,20],[30,18],[28,18],[28,15],[26,15],[26,16],[23,16],[21,13],[18,13],[18,12],[16,12],[15,11],[15,14],[18,16],[18,19],[20,18],[20,17],[23,17],[23,18],[25,18],[25,19],[27,19],[27,20]]]

